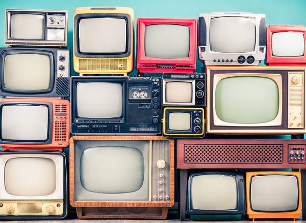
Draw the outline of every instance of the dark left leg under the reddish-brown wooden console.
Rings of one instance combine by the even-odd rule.
[[[187,193],[188,170],[180,170],[180,219],[186,218],[186,193]]]

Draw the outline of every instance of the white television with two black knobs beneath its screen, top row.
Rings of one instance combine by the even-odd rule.
[[[198,53],[204,65],[259,65],[266,55],[266,15],[199,14]]]

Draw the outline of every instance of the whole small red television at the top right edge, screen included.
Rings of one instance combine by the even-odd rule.
[[[306,27],[304,25],[269,25],[266,63],[270,66],[305,66]]]

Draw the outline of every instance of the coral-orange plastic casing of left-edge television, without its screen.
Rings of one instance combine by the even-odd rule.
[[[28,98],[28,99],[0,99],[0,102],[48,102],[53,104],[53,118],[52,118],[52,142],[50,144],[0,144],[2,150],[58,150],[62,151],[62,148],[69,145],[70,134],[70,103],[68,100],[63,99],[48,99],[48,98]],[[66,115],[56,115],[56,105],[66,105]],[[60,112],[61,113],[61,112]],[[66,118],[64,118],[66,117]],[[55,125],[57,122],[65,122],[66,136],[65,141],[55,140]],[[62,125],[60,125],[62,126]],[[35,128],[35,126],[29,126],[29,128]]]

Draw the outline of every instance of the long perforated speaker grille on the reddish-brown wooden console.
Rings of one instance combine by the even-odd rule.
[[[283,163],[283,145],[185,144],[184,163]]]

